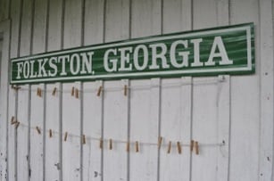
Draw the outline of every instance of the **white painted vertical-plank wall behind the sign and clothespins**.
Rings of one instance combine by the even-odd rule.
[[[274,180],[273,7],[273,0],[0,0],[0,180]],[[9,86],[10,58],[245,22],[255,24],[254,75]],[[192,139],[199,155],[190,152]]]

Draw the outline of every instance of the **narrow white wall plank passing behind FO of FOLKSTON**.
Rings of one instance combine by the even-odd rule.
[[[21,17],[20,56],[30,53],[31,23],[33,1],[23,1]],[[29,169],[29,109],[30,86],[21,86],[18,92],[18,120],[21,125],[17,129],[17,177],[28,180],[31,177]]]

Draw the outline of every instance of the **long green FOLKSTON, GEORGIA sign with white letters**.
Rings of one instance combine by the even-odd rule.
[[[11,61],[11,84],[249,74],[253,23],[41,53]]]

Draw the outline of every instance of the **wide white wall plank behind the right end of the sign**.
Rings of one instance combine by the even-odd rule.
[[[257,0],[230,1],[232,24],[254,22],[255,35],[259,30]],[[260,47],[259,36],[255,36],[255,47]],[[230,180],[258,180],[259,128],[260,128],[260,58],[255,48],[256,74],[231,77],[231,141]],[[239,88],[240,87],[240,88]]]

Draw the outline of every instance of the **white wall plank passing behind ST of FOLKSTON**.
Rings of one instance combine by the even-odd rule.
[[[61,25],[62,25],[62,0],[49,0],[48,16],[48,45],[47,51],[59,50],[61,48]],[[46,92],[46,149],[45,149],[45,180],[59,180],[61,172],[59,125],[60,110],[60,84],[47,85]],[[56,88],[56,94],[53,94]],[[53,136],[49,137],[49,130],[52,129]]]

